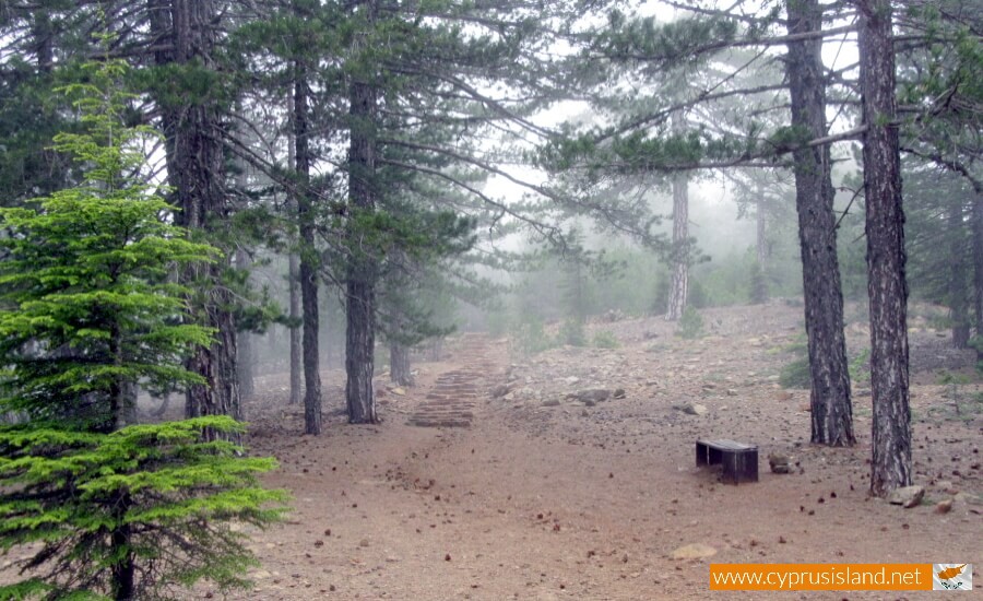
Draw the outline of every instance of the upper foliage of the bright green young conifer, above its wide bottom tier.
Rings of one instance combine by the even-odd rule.
[[[126,408],[123,382],[200,381],[181,366],[211,331],[187,323],[188,290],[169,275],[215,250],[168,222],[173,209],[140,179],[149,128],[123,128],[125,70],[93,66],[64,89],[86,131],[60,133],[59,152],[86,169],[80,186],[0,210],[0,409],[32,420],[108,431]],[[116,414],[114,414],[114,412]]]

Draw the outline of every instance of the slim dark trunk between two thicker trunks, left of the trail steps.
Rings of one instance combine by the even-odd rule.
[[[307,69],[294,66],[294,152],[299,180],[297,220],[300,222],[300,300],[304,306],[304,432],[321,433],[321,374],[318,356],[318,254],[310,196],[310,125]]]

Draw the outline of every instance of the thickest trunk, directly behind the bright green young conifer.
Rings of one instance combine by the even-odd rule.
[[[210,52],[220,19],[213,0],[147,0],[152,32],[170,42],[154,54],[157,64],[189,64],[198,61],[211,67]],[[165,135],[167,175],[174,189],[174,203],[180,209],[175,223],[191,235],[227,225],[223,119],[217,97],[202,92],[181,95],[179,103],[157,98]],[[234,299],[221,285],[223,262],[199,266],[185,274],[188,281],[212,283],[203,326],[216,330],[215,341],[196,349],[186,367],[201,375],[206,384],[188,387],[185,413],[232,415],[241,419],[236,367],[236,323],[228,307]]]

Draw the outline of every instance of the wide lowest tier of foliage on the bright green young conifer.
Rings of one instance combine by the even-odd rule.
[[[0,587],[0,598],[100,598],[125,557],[137,566],[138,599],[179,598],[203,578],[223,590],[247,586],[242,573],[257,562],[242,526],[275,521],[286,499],[257,485],[272,458],[240,457],[206,429],[244,426],[208,416],[110,434],[0,428],[0,547],[36,545],[19,564],[31,577]]]

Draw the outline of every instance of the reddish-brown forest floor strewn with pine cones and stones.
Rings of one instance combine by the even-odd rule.
[[[972,352],[911,319],[915,483],[926,497],[904,509],[867,494],[867,386],[854,382],[857,445],[833,449],[808,444],[808,391],[778,385],[801,307],[702,315],[708,335],[698,340],[674,337],[656,317],[624,319],[589,326],[614,334],[618,349],[526,358],[510,354],[508,340],[464,334],[445,361],[417,364],[414,387],[383,392],[379,425],[347,425],[343,375],[325,372],[320,437],[298,436],[303,413],[284,404],[284,376],[262,378],[249,445],[280,459],[264,482],[291,491],[295,510],[257,533],[257,586],[234,598],[703,599],[711,562],[983,565],[983,402],[974,397],[983,386],[936,384],[943,368],[972,375]],[[848,327],[852,355],[869,340],[861,319]],[[411,425],[449,373],[477,390],[457,410],[471,425]],[[570,396],[595,388],[625,393]],[[686,403],[707,412],[680,411]],[[697,469],[703,437],[758,445],[760,481],[722,484]],[[771,473],[774,452],[791,457],[792,473]],[[951,510],[939,512],[949,498]],[[691,544],[713,554],[674,558]]]

